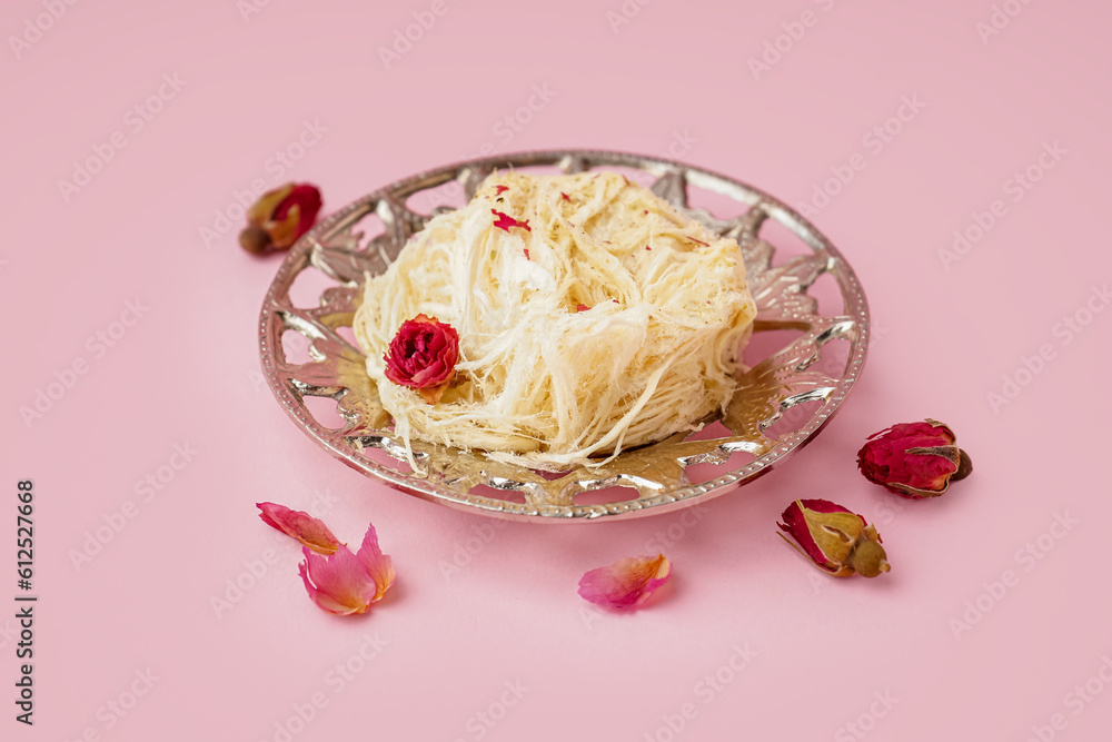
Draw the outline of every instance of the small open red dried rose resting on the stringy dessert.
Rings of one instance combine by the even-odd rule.
[[[417,389],[435,405],[456,376],[459,335],[451,325],[420,314],[401,323],[383,359],[386,378]]]

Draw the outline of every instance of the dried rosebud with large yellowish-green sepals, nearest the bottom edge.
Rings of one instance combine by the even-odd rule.
[[[826,499],[797,499],[787,506],[780,530],[795,538],[798,546],[781,538],[835,577],[860,574],[875,577],[888,571],[887,556],[876,528],[865,518]]]

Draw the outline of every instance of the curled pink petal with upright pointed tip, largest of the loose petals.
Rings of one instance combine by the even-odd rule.
[[[378,546],[375,526],[367,526],[363,545],[355,554],[340,546],[331,556],[301,550],[298,567],[309,597],[321,611],[336,615],[366,613],[394,584],[394,563]]]

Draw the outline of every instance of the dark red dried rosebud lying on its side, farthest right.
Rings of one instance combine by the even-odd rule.
[[[870,482],[904,497],[937,497],[950,482],[973,472],[954,432],[937,421],[901,423],[881,431],[857,452],[857,468]]]

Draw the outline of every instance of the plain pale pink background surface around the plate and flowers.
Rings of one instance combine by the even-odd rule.
[[[620,24],[619,0],[446,0],[387,69],[378,49],[430,1],[259,2],[246,18],[234,0],[79,2],[38,21],[39,0],[12,0],[0,13],[0,471],[9,492],[34,479],[40,595],[33,729],[12,719],[16,622],[0,619],[0,736],[1106,739],[1112,504],[1092,465],[1109,441],[1106,3],[1010,0],[1017,14],[983,40],[989,0],[628,0]],[[795,24],[805,11],[812,24]],[[755,75],[751,58],[777,37],[786,51]],[[547,103],[519,131],[499,125],[534,86]],[[145,120],[133,109],[151,96]],[[922,109],[878,147],[870,132],[904,97]],[[319,139],[288,168],[269,160],[305,121]],[[484,145],[664,155],[681,141],[681,159],[794,205],[860,155],[813,221],[857,270],[875,328],[830,427],[694,524],[492,530],[332,461],[262,383],[256,317],[280,258],[246,255],[217,218],[254,180],[320,184],[334,209]],[[1044,142],[1059,155],[1040,171]],[[110,161],[63,194],[98,149]],[[1042,177],[1016,190],[1029,166]],[[994,200],[995,224],[944,265],[954,230],[975,235]],[[85,373],[70,376],[76,362]],[[1005,376],[1022,386],[994,405]],[[24,421],[58,377],[71,387]],[[868,434],[924,416],[956,429],[972,478],[907,502],[858,476]],[[176,445],[196,453],[175,458]],[[159,491],[137,488],[160,467]],[[810,567],[774,533],[795,497],[874,520],[893,572],[834,581]],[[387,600],[357,619],[317,610],[259,499],[322,514],[345,541],[374,521],[399,575]],[[14,506],[6,495],[11,531]],[[122,508],[133,517],[76,566]],[[669,528],[661,600],[585,611],[584,571]],[[237,580],[248,588],[229,593]],[[379,644],[368,661],[365,636]],[[340,686],[344,663],[358,672]],[[148,670],[149,689],[135,680]],[[290,730],[315,694],[322,708]]]

